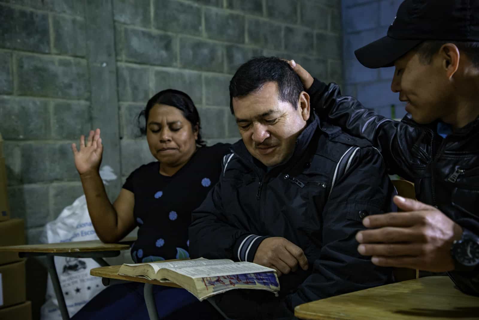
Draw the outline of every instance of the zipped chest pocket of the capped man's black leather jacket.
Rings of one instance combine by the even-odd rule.
[[[447,181],[454,183],[451,204],[461,212],[479,216],[479,166],[457,167]]]

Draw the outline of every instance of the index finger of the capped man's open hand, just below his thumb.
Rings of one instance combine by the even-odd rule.
[[[409,227],[420,224],[423,220],[424,216],[417,212],[391,212],[367,216],[363,219],[363,225],[368,228]]]

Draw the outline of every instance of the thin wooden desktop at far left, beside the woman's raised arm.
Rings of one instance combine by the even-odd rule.
[[[130,249],[131,239],[120,243],[103,243],[100,240],[46,243],[21,246],[0,246],[0,252],[38,252],[38,253],[65,253],[65,252],[92,252],[116,251]]]

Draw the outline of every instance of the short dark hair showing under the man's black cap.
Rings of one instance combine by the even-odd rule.
[[[459,51],[465,53],[471,60],[474,67],[479,68],[479,42],[475,41],[445,41],[445,40],[426,40],[416,47],[419,53],[419,59],[422,64],[431,64],[433,56],[446,43],[456,45]]]

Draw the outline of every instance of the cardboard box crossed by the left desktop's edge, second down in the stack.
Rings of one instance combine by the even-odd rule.
[[[25,223],[23,219],[10,219],[0,222],[0,246],[19,246],[25,243]],[[18,252],[0,251],[0,265],[21,260],[18,257]]]

